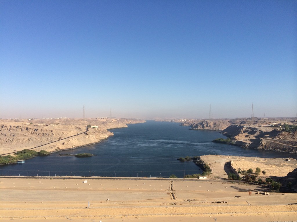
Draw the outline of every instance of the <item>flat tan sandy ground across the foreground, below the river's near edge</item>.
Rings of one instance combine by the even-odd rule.
[[[8,177],[0,178],[0,190],[0,221],[233,222],[297,218],[296,193],[262,195],[257,194],[265,191],[260,186],[221,180]]]

